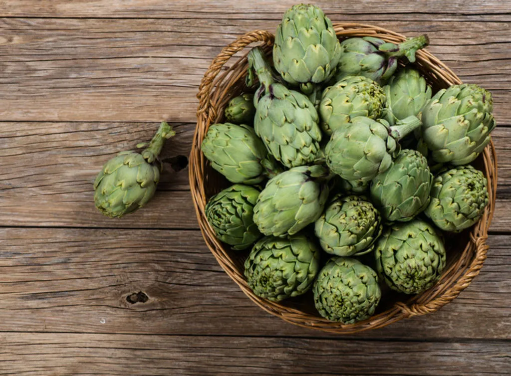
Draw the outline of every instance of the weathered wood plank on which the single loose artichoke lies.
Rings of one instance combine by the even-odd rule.
[[[111,220],[94,208],[92,182],[110,157],[148,140],[157,123],[9,123],[0,129],[0,221],[17,226],[198,228],[188,171],[165,165],[159,192],[134,216]],[[194,123],[174,124],[162,157],[188,156]],[[511,127],[493,133],[499,157],[498,202],[493,231],[511,220]],[[172,192],[169,192],[172,191]],[[180,191],[180,192],[175,192]],[[165,209],[162,210],[162,207]]]

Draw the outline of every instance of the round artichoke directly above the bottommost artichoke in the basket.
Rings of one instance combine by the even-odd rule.
[[[334,197],[314,226],[321,248],[337,256],[370,252],[381,232],[380,213],[360,196]]]

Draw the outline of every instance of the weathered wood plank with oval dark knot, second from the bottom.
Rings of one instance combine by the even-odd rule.
[[[0,243],[0,332],[328,336],[255,306],[199,231],[3,228]],[[509,338],[511,237],[489,245],[481,274],[454,302],[356,337]],[[130,303],[138,292],[148,300]]]

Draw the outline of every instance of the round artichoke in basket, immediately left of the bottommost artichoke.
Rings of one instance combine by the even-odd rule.
[[[272,301],[307,292],[319,271],[319,249],[303,234],[264,237],[245,261],[245,277],[255,295]]]

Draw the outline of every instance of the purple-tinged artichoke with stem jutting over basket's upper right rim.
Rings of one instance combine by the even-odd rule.
[[[396,72],[398,59],[406,56],[415,61],[415,52],[427,46],[427,35],[395,44],[374,37],[349,38],[341,43],[341,58],[337,65],[337,81],[346,76],[365,76],[380,83]]]

